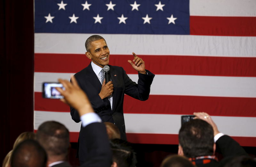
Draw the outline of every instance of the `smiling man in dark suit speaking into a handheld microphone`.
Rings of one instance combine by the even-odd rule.
[[[109,65],[110,52],[103,37],[99,35],[90,36],[85,42],[86,56],[92,62],[83,70],[75,74],[81,89],[87,94],[92,107],[103,122],[114,123],[121,133],[121,139],[126,140],[123,103],[124,94],[139,100],[147,100],[150,85],[154,74],[145,69],[145,62],[133,54],[133,60],[128,60],[132,68],[138,71],[138,84],[133,82],[122,67]],[[102,68],[108,65],[111,81],[105,83]],[[104,80],[102,83],[101,81]],[[136,112],[136,111],[135,111]],[[75,122],[80,122],[78,112],[70,107],[70,114]],[[83,163],[86,152],[84,150],[83,128],[80,129],[78,139],[79,161]]]

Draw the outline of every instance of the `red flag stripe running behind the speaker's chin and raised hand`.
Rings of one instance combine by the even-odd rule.
[[[154,74],[204,76],[256,76],[256,57],[209,57],[138,55]],[[137,74],[127,60],[132,55],[111,55],[111,65],[122,66],[127,74]],[[83,54],[35,54],[35,72],[76,73],[90,63]]]

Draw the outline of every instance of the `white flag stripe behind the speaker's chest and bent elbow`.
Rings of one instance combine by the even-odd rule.
[[[43,82],[57,82],[58,78],[69,80],[70,74],[35,72],[35,91],[42,92]],[[137,74],[128,76],[138,81]],[[150,94],[255,98],[255,83],[256,77],[156,75]]]

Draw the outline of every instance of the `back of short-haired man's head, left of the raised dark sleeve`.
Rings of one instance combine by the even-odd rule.
[[[44,122],[38,127],[36,139],[47,152],[48,164],[66,160],[69,131],[64,125],[56,121]]]

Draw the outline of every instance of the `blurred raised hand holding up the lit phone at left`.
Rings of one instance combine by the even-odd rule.
[[[65,90],[60,87],[56,87],[61,95],[64,96],[63,99],[60,99],[62,102],[74,107],[80,116],[94,112],[89,98],[77,84],[75,76],[71,77],[72,83],[68,80],[62,79],[58,79],[58,81],[65,87]]]

